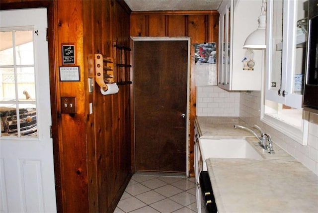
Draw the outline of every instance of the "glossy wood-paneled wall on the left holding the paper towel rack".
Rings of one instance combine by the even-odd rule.
[[[95,53],[116,58],[113,42],[129,46],[130,9],[116,0],[0,1],[1,9],[31,7],[48,8],[58,212],[113,212],[132,175],[130,85],[119,86],[118,94],[103,96],[97,84],[94,92],[88,92],[87,79],[94,79]],[[59,80],[64,43],[76,47],[78,82]],[[129,63],[129,54],[125,60]],[[125,72],[130,77],[130,69]],[[77,98],[76,114],[61,113],[64,96]]]

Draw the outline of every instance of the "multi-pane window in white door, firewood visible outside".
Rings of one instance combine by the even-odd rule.
[[[1,137],[37,137],[32,28],[0,29]]]

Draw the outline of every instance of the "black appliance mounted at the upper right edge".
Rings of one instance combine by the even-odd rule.
[[[303,107],[305,110],[318,113],[318,0],[309,0],[308,5],[308,42]]]

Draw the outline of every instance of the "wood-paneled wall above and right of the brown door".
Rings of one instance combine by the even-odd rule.
[[[189,175],[194,176],[194,118],[196,87],[194,83],[195,43],[218,42],[218,11],[145,11],[130,15],[130,36],[187,36],[191,39]],[[193,60],[192,60],[193,59]]]

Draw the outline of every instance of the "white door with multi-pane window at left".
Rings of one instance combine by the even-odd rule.
[[[57,211],[46,28],[45,8],[0,11],[1,213]]]

